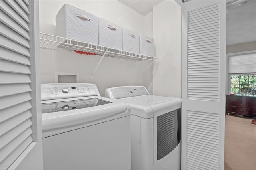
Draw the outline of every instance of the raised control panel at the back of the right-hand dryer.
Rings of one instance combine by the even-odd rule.
[[[112,87],[105,91],[105,97],[110,99],[120,99],[125,97],[134,97],[149,95],[146,87],[144,86],[122,86],[122,87]]]

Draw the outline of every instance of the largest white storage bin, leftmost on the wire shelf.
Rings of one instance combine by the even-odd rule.
[[[98,45],[98,17],[64,4],[55,19],[57,36]]]

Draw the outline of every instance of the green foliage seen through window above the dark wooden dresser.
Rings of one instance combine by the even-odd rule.
[[[254,75],[231,75],[230,93],[242,93],[247,90],[248,93],[256,91],[256,74]]]

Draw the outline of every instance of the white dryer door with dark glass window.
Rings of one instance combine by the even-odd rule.
[[[180,143],[180,105],[168,102],[153,105],[152,109],[154,110],[154,166],[158,166],[172,156],[172,151]]]

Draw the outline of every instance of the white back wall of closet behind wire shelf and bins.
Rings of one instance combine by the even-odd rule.
[[[55,16],[63,4],[69,4],[86,10],[122,27],[129,28],[139,34],[152,35],[152,15],[142,16],[138,12],[116,0],[111,1],[62,1],[40,0],[39,17],[40,32],[56,35]],[[150,18],[151,17],[151,18]],[[152,25],[152,24],[151,24]],[[105,57],[91,79],[100,57],[79,55],[69,51],[40,49],[42,83],[54,83],[54,72],[79,73],[80,83],[94,83],[100,94],[108,87],[122,85],[142,85],[152,93],[152,66],[142,74],[151,61],[126,61]]]

